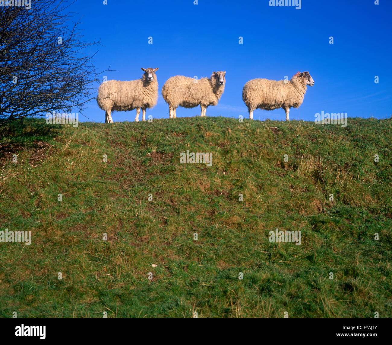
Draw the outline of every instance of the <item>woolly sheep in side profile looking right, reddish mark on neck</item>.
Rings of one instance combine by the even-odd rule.
[[[314,85],[309,72],[297,72],[290,81],[269,79],[248,81],[243,87],[242,99],[248,107],[249,119],[253,120],[253,111],[256,109],[283,108],[286,112],[286,121],[289,121],[290,108],[298,108],[302,104],[307,85]]]

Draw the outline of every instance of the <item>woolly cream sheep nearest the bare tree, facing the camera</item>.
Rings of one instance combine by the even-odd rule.
[[[105,110],[105,123],[113,123],[111,112],[136,109],[135,121],[139,121],[140,108],[143,118],[147,108],[152,108],[158,101],[158,81],[155,72],[159,68],[141,68],[142,78],[131,81],[108,80],[98,88],[97,103]]]

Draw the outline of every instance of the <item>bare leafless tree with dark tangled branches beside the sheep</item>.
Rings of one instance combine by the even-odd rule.
[[[15,1],[18,3],[18,1]],[[0,7],[0,126],[53,111],[80,113],[100,73],[64,0]],[[71,24],[70,24],[71,23]]]

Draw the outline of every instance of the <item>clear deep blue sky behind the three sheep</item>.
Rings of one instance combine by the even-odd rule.
[[[315,84],[290,119],[314,121],[314,114],[386,118],[392,114],[392,1],[302,0],[301,9],[269,6],[269,0],[77,0],[85,39],[101,39],[95,64],[111,66],[108,79],[133,80],[141,67],[156,68],[158,104],[147,116],[169,118],[161,88],[174,75],[209,77],[226,71],[226,86],[207,116],[249,117],[243,85],[254,78],[289,79],[309,71]],[[243,44],[239,44],[239,37]],[[329,37],[334,44],[329,44]],[[148,38],[152,37],[152,44]],[[92,49],[91,53],[96,49]],[[379,83],[374,83],[374,77]],[[93,101],[81,121],[104,122]],[[177,117],[200,115],[200,107],[177,109]],[[133,121],[136,110],[114,112],[114,121]],[[284,120],[283,109],[256,110],[254,119]]]

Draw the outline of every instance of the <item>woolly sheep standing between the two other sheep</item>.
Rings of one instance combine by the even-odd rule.
[[[167,79],[162,96],[169,105],[169,118],[176,117],[178,106],[194,108],[200,105],[201,116],[206,116],[207,106],[217,105],[225,89],[226,71],[213,72],[209,78],[193,79],[176,75]]]

